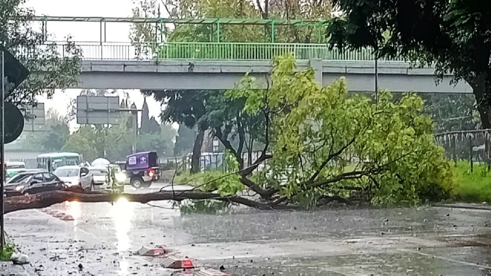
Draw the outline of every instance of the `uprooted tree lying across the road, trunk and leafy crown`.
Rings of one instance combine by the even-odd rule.
[[[225,95],[242,102],[242,108],[228,109],[228,122],[213,123],[217,137],[227,143],[230,136],[243,137],[243,118],[263,117],[264,148],[251,166],[239,154],[244,143],[239,137],[238,148],[225,145],[232,172],[205,173],[205,181],[192,191],[122,196],[138,202],[217,199],[261,209],[313,208],[326,198],[415,204],[448,196],[451,166],[433,142],[433,124],[421,114],[421,98],[407,94],[393,102],[384,92],[373,103],[348,96],[344,79],[321,87],[313,70],[296,70],[293,56],[277,58],[270,77],[269,87],[259,89],[253,77],[245,76]],[[9,198],[6,210],[64,200],[111,201],[114,195],[48,192]]]

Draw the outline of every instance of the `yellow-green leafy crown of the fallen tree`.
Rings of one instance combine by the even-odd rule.
[[[377,204],[448,196],[452,170],[433,143],[432,121],[421,114],[420,97],[407,94],[393,102],[383,92],[373,104],[361,95],[347,97],[344,79],[320,87],[312,70],[294,73],[292,56],[274,65],[269,90],[239,88],[233,96],[248,95],[247,112],[267,105],[276,113],[275,156],[265,174],[281,180],[266,186],[275,185],[297,202],[338,195],[344,186],[368,190]]]

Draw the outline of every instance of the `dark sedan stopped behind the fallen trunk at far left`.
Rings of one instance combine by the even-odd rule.
[[[65,188],[58,176],[49,172],[19,173],[5,183],[4,196],[30,195]]]

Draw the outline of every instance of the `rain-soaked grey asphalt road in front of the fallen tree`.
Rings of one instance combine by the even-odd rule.
[[[124,199],[65,202],[8,214],[6,227],[30,255],[26,269],[34,275],[170,275],[162,259],[133,254],[142,245],[166,245],[232,275],[491,275],[491,211],[181,215],[171,202],[151,204],[161,208]]]

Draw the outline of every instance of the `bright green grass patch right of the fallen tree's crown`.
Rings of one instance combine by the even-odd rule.
[[[487,165],[474,164],[474,171],[468,162],[459,161],[454,170],[452,197],[465,202],[491,202],[491,172]]]

